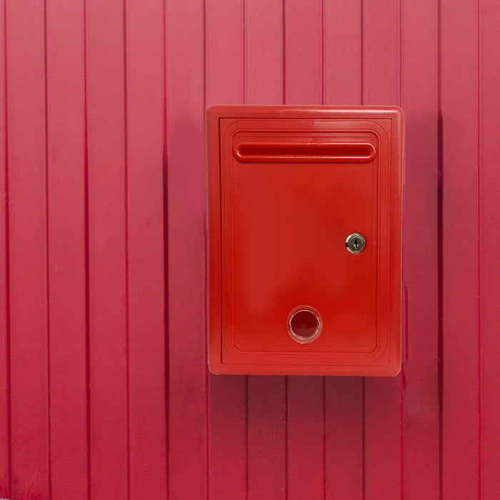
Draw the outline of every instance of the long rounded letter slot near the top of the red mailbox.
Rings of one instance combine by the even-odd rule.
[[[369,142],[240,142],[234,148],[236,159],[244,162],[366,162],[375,155]]]

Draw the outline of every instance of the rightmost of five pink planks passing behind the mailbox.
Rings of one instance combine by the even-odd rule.
[[[363,104],[399,104],[399,0],[363,3]],[[366,499],[401,496],[401,376],[367,377]]]

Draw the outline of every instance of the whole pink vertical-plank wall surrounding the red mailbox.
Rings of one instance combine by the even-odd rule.
[[[497,0],[0,0],[0,496],[498,499],[499,24]],[[207,372],[213,103],[404,108],[401,375]]]

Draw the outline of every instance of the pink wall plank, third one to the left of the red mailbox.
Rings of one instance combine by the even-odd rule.
[[[126,498],[123,2],[86,5],[91,498]]]

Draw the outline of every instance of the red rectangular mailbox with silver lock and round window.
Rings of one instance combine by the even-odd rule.
[[[401,367],[396,106],[211,106],[209,367],[386,375]]]

